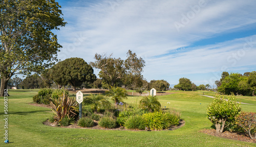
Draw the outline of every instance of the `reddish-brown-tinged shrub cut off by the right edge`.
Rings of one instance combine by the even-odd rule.
[[[243,128],[251,139],[256,139],[256,113],[242,112],[236,117],[236,124]]]

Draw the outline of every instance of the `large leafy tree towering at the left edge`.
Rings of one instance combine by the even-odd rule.
[[[54,0],[0,2],[0,96],[16,74],[39,72],[56,61],[61,47],[52,30],[65,26]]]

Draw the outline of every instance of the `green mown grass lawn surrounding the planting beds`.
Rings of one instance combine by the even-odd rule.
[[[201,96],[208,91],[176,92],[159,96],[163,108],[181,112],[185,126],[174,131],[112,131],[92,129],[53,128],[42,124],[53,113],[51,109],[29,105],[38,89],[10,90],[8,97],[8,139],[4,143],[4,99],[0,99],[0,146],[256,146],[256,143],[224,139],[201,133],[211,128],[206,107],[213,99]],[[212,95],[214,96],[214,95]],[[255,104],[255,97],[238,96],[244,103]],[[137,105],[141,96],[129,96],[126,103]],[[170,102],[170,104],[167,104]],[[243,111],[256,112],[256,105],[243,105]]]

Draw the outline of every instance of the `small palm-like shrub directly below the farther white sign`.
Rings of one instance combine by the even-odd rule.
[[[144,96],[140,100],[140,108],[143,110],[154,112],[159,111],[161,109],[161,104],[158,102],[156,96]]]

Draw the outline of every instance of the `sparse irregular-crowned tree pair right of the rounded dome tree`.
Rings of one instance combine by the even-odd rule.
[[[132,51],[127,52],[126,60],[111,56],[112,54],[109,57],[105,54],[95,54],[95,61],[90,63],[93,67],[100,69],[99,77],[102,78],[103,83],[118,86],[127,75],[141,75],[145,61],[142,58],[137,58]]]

